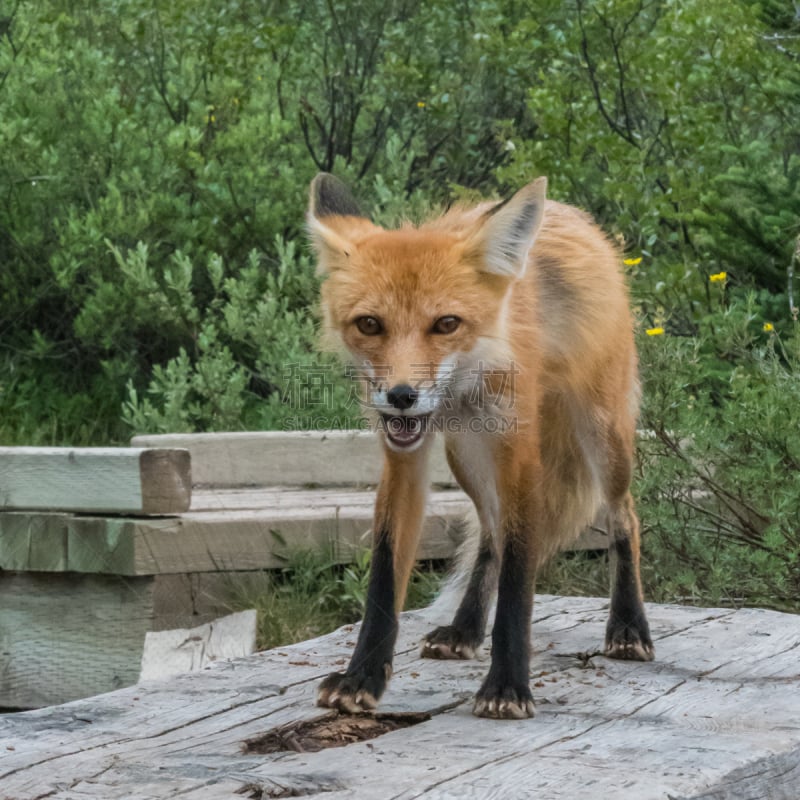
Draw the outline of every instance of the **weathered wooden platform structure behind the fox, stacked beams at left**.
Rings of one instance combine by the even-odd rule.
[[[140,436],[0,448],[0,707],[36,708],[254,647],[234,585],[291,550],[369,546],[368,432]],[[441,446],[418,556],[449,558],[469,508]],[[587,533],[580,547],[605,547]]]

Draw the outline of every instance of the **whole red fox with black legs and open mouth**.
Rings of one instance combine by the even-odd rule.
[[[452,624],[427,635],[422,656],[473,657],[497,592],[473,713],[533,716],[536,573],[598,519],[613,556],[605,652],[653,658],[629,491],[639,384],[621,259],[587,214],[546,200],[546,184],[397,230],[363,216],[332,175],[311,185],[324,336],[368,386],[384,450],[364,621],[347,670],[319,687],[322,706],[373,709],[389,681],[440,430],[479,535]]]

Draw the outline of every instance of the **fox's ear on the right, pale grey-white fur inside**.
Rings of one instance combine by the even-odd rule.
[[[537,178],[481,217],[467,253],[482,272],[509,278],[525,274],[528,251],[544,219],[546,192],[547,178]]]

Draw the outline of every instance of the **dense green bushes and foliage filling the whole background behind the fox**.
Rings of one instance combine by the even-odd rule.
[[[315,352],[313,175],[391,221],[546,174],[665,331],[658,585],[796,597],[799,37],[778,0],[7,0],[0,442],[356,424]]]

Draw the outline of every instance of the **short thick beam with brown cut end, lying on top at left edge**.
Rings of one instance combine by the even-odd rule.
[[[191,486],[188,450],[0,447],[0,510],[178,514]]]

